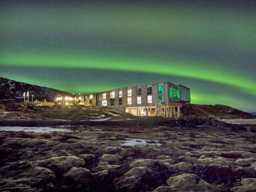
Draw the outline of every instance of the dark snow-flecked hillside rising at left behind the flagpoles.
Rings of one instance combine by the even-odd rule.
[[[22,95],[25,91],[29,91],[30,96],[33,94],[34,100],[47,99],[47,101],[52,101],[54,95],[58,93],[71,94],[49,87],[31,85],[28,83],[0,77],[0,101],[8,101],[10,99],[14,99],[14,101],[20,101],[23,99]]]

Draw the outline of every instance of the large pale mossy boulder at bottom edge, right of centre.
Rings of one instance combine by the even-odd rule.
[[[197,175],[189,173],[170,177],[166,183],[176,191],[220,191],[220,189],[202,180]]]

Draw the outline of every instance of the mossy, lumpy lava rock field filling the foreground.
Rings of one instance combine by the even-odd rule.
[[[256,191],[256,133],[64,126],[0,132],[0,191]]]

